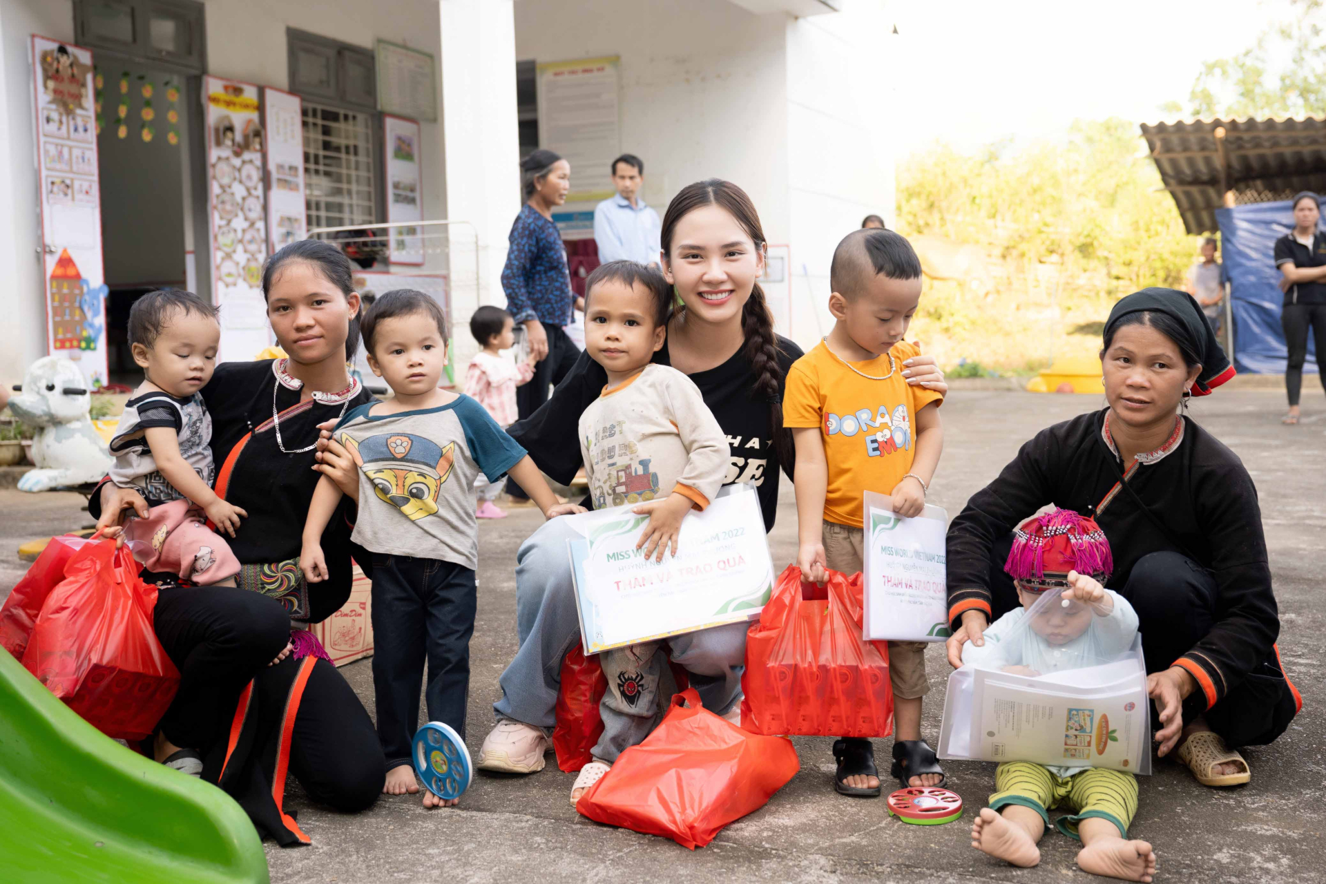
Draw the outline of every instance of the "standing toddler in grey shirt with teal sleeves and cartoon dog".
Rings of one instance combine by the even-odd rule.
[[[351,539],[373,553],[373,692],[387,758],[382,791],[400,795],[419,791],[410,741],[419,728],[426,659],[428,720],[465,736],[479,566],[475,478],[511,473],[548,518],[585,510],[557,502],[534,461],[483,406],[438,388],[447,318],[436,301],[414,289],[387,292],[362,329],[369,367],[395,395],[359,406],[333,436],[359,467]],[[328,578],[321,538],[339,500],[330,477],[318,480],[300,553],[309,583]],[[424,807],[455,803],[431,791],[423,797]]]

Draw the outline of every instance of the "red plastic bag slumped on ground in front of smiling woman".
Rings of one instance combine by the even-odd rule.
[[[575,810],[695,850],[764,807],[800,769],[790,740],[747,733],[704,709],[688,688],[672,697],[654,733],[581,795]]]

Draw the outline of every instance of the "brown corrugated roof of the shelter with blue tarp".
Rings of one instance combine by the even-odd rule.
[[[1142,135],[1189,233],[1216,229],[1225,191],[1240,204],[1326,191],[1326,119],[1143,123]]]

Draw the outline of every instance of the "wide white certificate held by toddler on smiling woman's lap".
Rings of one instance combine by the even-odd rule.
[[[682,520],[676,557],[644,559],[635,545],[644,516],[617,506],[564,516],[585,653],[666,639],[760,616],[773,591],[773,561],[753,485],[723,488]]]

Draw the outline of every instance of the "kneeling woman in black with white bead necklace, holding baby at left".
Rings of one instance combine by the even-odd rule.
[[[290,630],[292,620],[326,619],[350,595],[347,513],[322,538],[330,579],[308,586],[298,555],[318,470],[335,473],[316,463],[318,424],[373,399],[346,371],[354,350],[346,341],[358,339],[351,289],[349,260],[326,243],[294,243],[268,261],[268,317],[289,358],[223,363],[202,391],[220,465],[216,493],[248,513],[229,541],[243,566],[239,586],[162,586],[155,610],[156,636],[180,671],[156,759],[191,757],[195,770],[200,761],[203,778],[282,847],[309,840],[282,811],[286,770],[313,801],[345,812],[373,804],[386,779],[363,704],[317,641]],[[107,482],[89,509],[98,527],[126,509],[146,514],[142,497]]]

